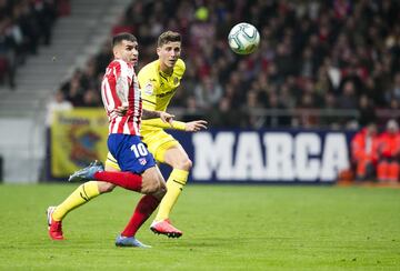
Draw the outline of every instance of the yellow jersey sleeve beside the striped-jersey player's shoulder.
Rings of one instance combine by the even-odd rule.
[[[141,69],[138,73],[140,92],[142,97],[143,108],[147,110],[156,110],[157,104],[157,79],[151,69]]]

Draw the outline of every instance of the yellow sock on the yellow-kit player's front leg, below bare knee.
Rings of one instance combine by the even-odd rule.
[[[184,184],[188,181],[189,172],[186,170],[174,169],[167,180],[167,193],[162,198],[160,209],[156,215],[156,221],[169,218],[169,214],[177,202]]]

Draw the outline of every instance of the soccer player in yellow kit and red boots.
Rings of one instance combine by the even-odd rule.
[[[138,73],[144,109],[167,110],[186,70],[180,53],[181,36],[173,31],[161,33],[157,44],[158,60],[144,66]],[[172,129],[188,132],[207,129],[204,120],[172,122]],[[143,120],[141,127],[143,142],[148,145],[156,160],[172,167],[172,172],[167,180],[167,194],[160,203],[159,211],[150,229],[154,233],[179,238],[182,232],[171,224],[169,217],[188,181],[192,162],[182,145],[163,130],[166,128],[170,129],[171,127],[159,119]],[[119,170],[117,160],[109,153],[106,165]],[[109,187],[109,189],[112,189],[112,187]]]

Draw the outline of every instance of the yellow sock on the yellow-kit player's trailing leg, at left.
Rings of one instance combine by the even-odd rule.
[[[96,181],[90,181],[77,188],[61,204],[59,204],[52,213],[54,221],[61,221],[67,213],[73,209],[87,203],[89,200],[100,194]]]

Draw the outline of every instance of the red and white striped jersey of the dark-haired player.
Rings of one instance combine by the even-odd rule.
[[[116,88],[119,77],[126,77],[129,86],[123,93],[128,101],[128,111],[123,117],[118,116],[116,112],[116,109],[122,106]],[[131,63],[116,59],[107,67],[101,82],[101,98],[109,117],[109,133],[140,136],[142,100],[138,79]]]

